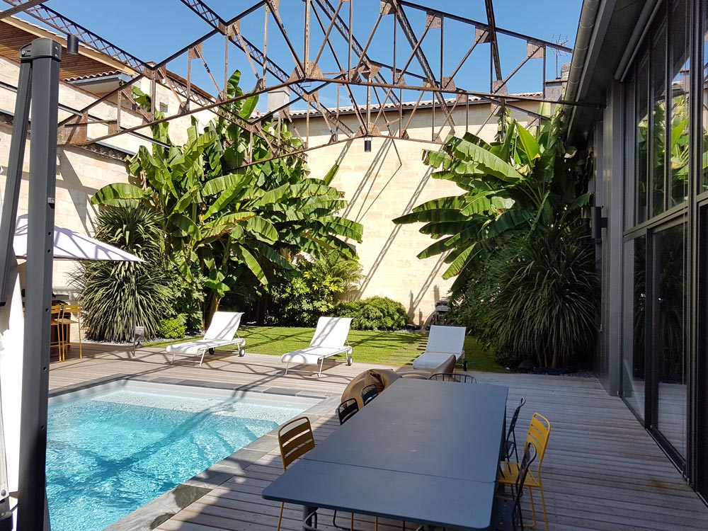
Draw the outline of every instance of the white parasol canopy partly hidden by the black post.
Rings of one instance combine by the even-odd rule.
[[[27,215],[17,218],[13,248],[18,258],[27,257]],[[144,262],[142,258],[118,249],[118,247],[56,225],[54,227],[54,258],[55,260]]]

